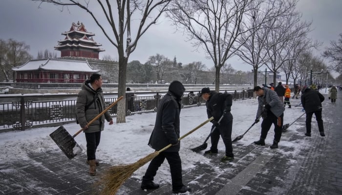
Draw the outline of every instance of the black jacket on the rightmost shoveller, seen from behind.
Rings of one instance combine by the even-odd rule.
[[[324,101],[324,96],[321,95],[320,92],[306,88],[302,93],[303,94],[300,97],[300,101],[305,110],[305,113],[322,110],[322,102]]]

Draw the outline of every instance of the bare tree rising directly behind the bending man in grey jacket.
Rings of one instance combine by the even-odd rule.
[[[267,0],[265,3],[256,4],[254,9],[249,10],[250,15],[253,16],[249,23],[252,30],[249,34],[242,34],[241,40],[237,39],[244,43],[235,54],[252,66],[254,86],[257,85],[258,69],[270,59],[267,52],[271,49],[271,45],[265,45],[268,36],[272,29],[281,25],[277,22],[278,18],[291,14],[289,10],[296,6],[296,2],[297,0]],[[261,24],[260,27],[256,28],[259,24]]]

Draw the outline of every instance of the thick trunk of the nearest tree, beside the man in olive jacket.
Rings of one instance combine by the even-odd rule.
[[[118,97],[124,98],[117,104],[116,123],[126,122],[126,69],[128,58],[119,56]]]

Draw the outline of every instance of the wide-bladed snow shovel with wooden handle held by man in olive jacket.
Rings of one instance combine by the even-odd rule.
[[[94,117],[92,120],[90,120],[86,125],[90,125],[95,120],[97,120],[99,117],[101,117],[103,114],[105,114],[111,107],[113,107],[115,104],[117,104],[121,99],[124,97],[118,98],[116,101],[114,101],[112,104],[110,104],[104,111],[102,111],[100,114],[98,114],[96,117]],[[60,126],[57,130],[52,132],[50,134],[50,137],[52,140],[56,142],[58,147],[64,152],[64,154],[69,158],[72,159],[77,155],[78,152],[82,151],[82,148],[77,144],[74,137],[76,137],[78,134],[80,134],[83,131],[83,128],[80,129],[78,132],[76,132],[75,135],[71,136],[65,128]]]

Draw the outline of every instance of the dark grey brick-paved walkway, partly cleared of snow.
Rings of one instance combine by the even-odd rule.
[[[312,137],[304,136],[305,128],[298,130],[302,132],[300,135],[291,132],[291,127],[283,133],[282,139],[294,144],[309,140],[307,146],[293,153],[296,155],[292,152],[298,147],[281,146],[281,142],[281,152],[268,146],[245,146],[237,142],[233,146],[233,163],[220,162],[220,155],[208,156],[213,158],[214,168],[197,164],[196,168],[183,172],[184,183],[192,188],[192,195],[342,195],[342,93],[338,96],[336,104],[331,104],[327,97],[323,102],[326,137],[319,135],[314,118]],[[297,123],[305,125],[305,117]],[[97,177],[88,176],[84,155],[66,160],[61,151],[53,150],[30,154],[29,158],[0,162],[0,195],[98,194],[93,185]],[[101,164],[98,172],[108,166]],[[171,194],[170,184],[145,192],[139,189],[140,182],[129,178],[117,194]]]

